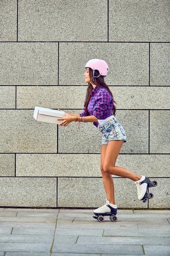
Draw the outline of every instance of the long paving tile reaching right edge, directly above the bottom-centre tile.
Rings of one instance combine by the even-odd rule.
[[[170,238],[165,237],[107,237],[79,236],[77,244],[136,244],[169,245]]]

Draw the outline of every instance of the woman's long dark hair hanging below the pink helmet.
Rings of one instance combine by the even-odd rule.
[[[99,71],[98,70],[95,70],[94,71],[94,76],[98,76],[99,75]],[[106,90],[108,90],[108,92],[111,94],[112,98],[113,98],[113,94],[111,93],[108,85],[105,83],[104,81],[104,76],[99,76],[99,77],[95,77],[94,78],[94,82],[92,81],[93,79],[93,70],[89,67],[89,77],[90,77],[90,80],[93,84],[95,84],[97,87],[99,88],[105,88]],[[87,96],[85,98],[85,115],[86,116],[89,116],[90,114],[88,113],[88,103],[90,101],[90,98],[91,98],[91,92],[93,90],[93,85],[91,83],[88,83],[88,88],[87,88]],[[112,108],[112,112],[113,112],[113,116],[115,116],[115,113],[116,113],[116,106],[114,105],[114,103],[116,103],[113,99],[113,108]],[[117,103],[116,103],[117,104]]]

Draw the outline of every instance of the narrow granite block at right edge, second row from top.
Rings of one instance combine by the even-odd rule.
[[[170,44],[150,44],[150,85],[170,86]]]

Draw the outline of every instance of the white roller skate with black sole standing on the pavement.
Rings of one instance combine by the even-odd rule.
[[[116,204],[110,204],[109,199],[106,198],[106,204],[94,210],[93,218],[97,219],[99,222],[104,221],[104,216],[109,216],[110,220],[117,221],[117,206]]]

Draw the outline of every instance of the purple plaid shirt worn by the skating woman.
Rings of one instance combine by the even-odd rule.
[[[97,119],[106,119],[109,116],[113,115],[113,98],[108,90],[104,88],[95,87],[91,92],[91,99],[88,103],[88,112],[90,116],[96,116]],[[79,114],[80,116],[85,115],[84,112]],[[98,122],[93,123],[96,127],[98,127]]]

